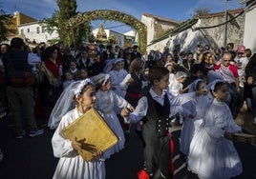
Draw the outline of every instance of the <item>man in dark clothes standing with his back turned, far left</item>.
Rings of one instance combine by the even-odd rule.
[[[23,120],[27,125],[29,136],[34,137],[44,132],[43,129],[37,129],[32,86],[27,84],[24,78],[25,74],[32,74],[32,68],[28,63],[28,51],[25,51],[24,47],[23,39],[14,37],[11,39],[11,50],[8,54],[7,96],[17,139],[23,138],[26,134],[22,126]]]

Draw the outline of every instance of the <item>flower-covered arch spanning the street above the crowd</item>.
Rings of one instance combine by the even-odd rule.
[[[75,17],[67,22],[67,30],[72,30],[75,26],[91,20],[113,20],[124,23],[135,30],[139,34],[139,50],[145,51],[147,44],[147,28],[136,17],[117,11],[117,10],[93,10],[84,13],[78,13]]]

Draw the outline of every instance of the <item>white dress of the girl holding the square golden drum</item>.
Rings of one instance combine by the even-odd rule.
[[[59,158],[53,179],[105,179],[104,159],[85,162],[73,149],[72,142],[61,134],[62,129],[69,126],[78,117],[77,109],[70,110],[62,117],[53,134],[53,155]]]

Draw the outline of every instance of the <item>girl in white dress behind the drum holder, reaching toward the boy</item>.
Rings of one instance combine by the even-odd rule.
[[[117,118],[117,113],[115,112],[114,107],[116,106],[120,109],[127,108],[130,110],[134,110],[134,108],[124,98],[117,95],[117,93],[112,90],[111,79],[108,74],[99,73],[92,77],[92,81],[97,88],[96,109],[101,112],[106,123],[113,129],[119,139],[114,147],[105,151],[104,156],[108,158],[113,153],[123,149],[125,143],[123,129]]]

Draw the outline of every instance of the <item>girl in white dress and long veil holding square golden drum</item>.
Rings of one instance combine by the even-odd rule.
[[[72,99],[75,98],[76,108]],[[86,162],[78,154],[81,143],[66,139],[61,131],[88,109],[94,107],[96,90],[90,80],[77,81],[63,91],[51,115],[51,128],[57,126],[52,138],[53,154],[59,158],[53,179],[105,179],[105,162],[102,151],[95,149],[95,159]],[[59,107],[59,108],[58,108]],[[59,114],[66,114],[60,118]],[[58,125],[59,123],[59,125]]]

